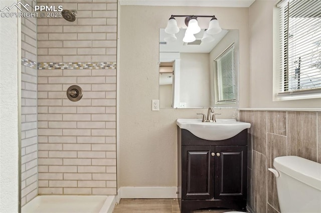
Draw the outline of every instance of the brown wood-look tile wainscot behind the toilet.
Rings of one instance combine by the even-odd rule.
[[[252,124],[248,130],[248,205],[254,212],[280,212],[275,177],[267,168],[273,167],[275,157],[284,155],[321,162],[321,112],[242,110],[240,120]]]

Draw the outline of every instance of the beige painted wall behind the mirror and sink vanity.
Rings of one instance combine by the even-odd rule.
[[[223,28],[240,31],[240,92],[249,106],[248,8],[215,7],[120,7],[120,186],[177,186],[177,118],[196,118],[206,109],[160,109],[151,111],[151,99],[158,99],[159,28],[165,28],[171,14],[215,14]],[[184,18],[177,18],[183,26]],[[199,18],[201,28],[209,19]],[[216,110],[232,117],[233,110]]]

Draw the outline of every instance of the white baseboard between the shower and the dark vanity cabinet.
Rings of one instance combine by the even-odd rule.
[[[177,187],[120,187],[117,202],[121,198],[177,198]]]

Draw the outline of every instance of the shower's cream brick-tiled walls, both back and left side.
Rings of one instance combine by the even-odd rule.
[[[117,0],[24,3],[77,16],[22,18],[22,205],[38,193],[116,194]]]

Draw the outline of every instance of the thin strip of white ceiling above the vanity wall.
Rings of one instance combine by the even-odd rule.
[[[119,0],[120,5],[249,7],[255,0]]]

